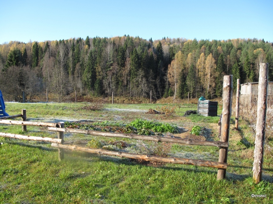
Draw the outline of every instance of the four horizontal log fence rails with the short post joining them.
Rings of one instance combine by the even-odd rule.
[[[0,124],[11,124],[11,125],[31,125],[31,126],[46,126],[50,131],[58,132],[58,139],[50,138],[50,137],[35,137],[28,135],[16,135],[10,133],[0,133],[1,137],[10,137],[15,139],[26,139],[26,140],[35,140],[35,141],[44,141],[51,142],[52,147],[59,148],[59,159],[64,159],[64,151],[67,150],[76,150],[90,153],[97,153],[100,155],[111,155],[118,157],[127,157],[131,159],[141,159],[145,161],[156,161],[156,162],[165,162],[165,163],[177,163],[177,164],[188,164],[194,166],[205,166],[205,167],[213,167],[220,169],[227,169],[226,162],[215,162],[215,161],[205,161],[205,160],[197,160],[197,159],[183,159],[179,157],[159,157],[153,155],[140,155],[128,152],[120,152],[120,151],[112,151],[112,150],[104,150],[104,149],[96,149],[96,148],[87,148],[76,145],[65,145],[63,135],[64,132],[67,133],[83,133],[88,135],[101,135],[105,137],[122,137],[122,138],[131,138],[131,139],[141,139],[148,141],[157,141],[157,142],[172,142],[172,143],[180,143],[187,145],[202,145],[202,146],[215,146],[219,148],[227,148],[228,142],[225,141],[205,141],[205,140],[195,140],[195,139],[180,139],[180,138],[172,138],[172,137],[160,137],[160,136],[148,136],[148,135],[136,135],[136,134],[125,134],[125,133],[108,133],[108,132],[100,132],[100,131],[92,131],[92,130],[80,130],[80,129],[70,129],[64,128],[64,123],[46,123],[46,122],[21,122],[21,121],[11,121],[11,120],[3,120],[0,119]]]

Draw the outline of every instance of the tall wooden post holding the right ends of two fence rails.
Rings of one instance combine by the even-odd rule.
[[[229,126],[231,116],[232,103],[232,75],[224,76],[223,82],[223,110],[222,110],[222,125],[221,125],[221,140],[229,141]],[[220,147],[219,162],[227,162],[227,147]],[[217,180],[226,178],[226,169],[218,169]]]

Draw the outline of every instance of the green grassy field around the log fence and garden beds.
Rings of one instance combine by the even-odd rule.
[[[146,113],[167,104],[103,104],[103,109],[96,111],[87,110],[90,105],[6,103],[6,112],[17,115],[26,109],[28,121],[69,121],[107,127],[125,126],[141,118],[177,126],[180,132],[173,135],[178,137],[218,140],[219,117],[183,116],[186,110],[197,110],[196,104],[174,104],[177,112],[173,117]],[[49,143],[0,137],[0,203],[273,203],[272,136],[265,143],[263,181],[256,185],[252,182],[255,133],[243,120],[239,120],[240,130],[235,131],[234,116],[231,123],[227,179],[222,181],[216,180],[217,169],[207,167],[71,151],[66,151],[65,159],[58,161],[58,149]],[[199,136],[189,134],[195,125],[202,127]],[[27,129],[24,133],[21,126],[0,125],[0,132],[57,137],[47,128],[28,126]],[[71,133],[65,133],[64,140],[80,146],[88,146],[93,140],[107,144],[122,140],[130,144],[124,150],[135,153],[145,153],[158,145]],[[168,150],[170,156],[218,161],[216,147],[172,144]],[[255,198],[252,194],[267,197]]]

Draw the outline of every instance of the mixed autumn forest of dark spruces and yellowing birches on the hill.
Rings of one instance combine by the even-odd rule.
[[[129,35],[89,36],[59,41],[10,41],[0,45],[0,89],[10,100],[27,101],[46,89],[64,97],[90,96],[206,99],[222,96],[224,75],[241,83],[258,81],[259,64],[269,63],[273,43],[264,39],[149,40]]]

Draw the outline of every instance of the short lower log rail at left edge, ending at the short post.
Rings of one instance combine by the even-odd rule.
[[[10,138],[15,138],[15,139],[51,142],[51,143],[58,143],[58,144],[63,143],[62,139],[55,139],[55,138],[51,138],[51,137],[35,137],[35,136],[17,135],[17,134],[11,134],[11,133],[0,133],[0,136],[1,137],[10,137]]]

